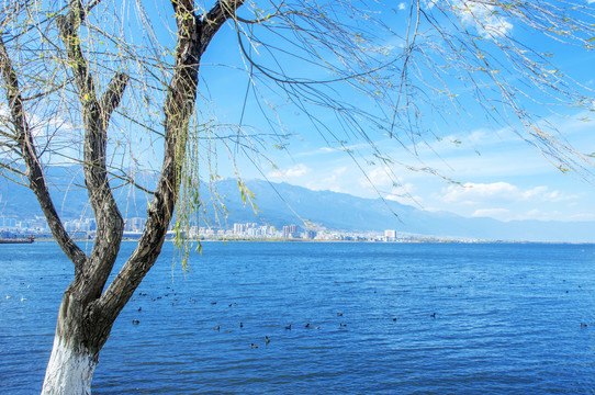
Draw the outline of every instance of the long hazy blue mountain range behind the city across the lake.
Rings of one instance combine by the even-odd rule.
[[[67,169],[52,170],[58,177],[59,187],[52,194],[63,217],[79,218],[81,212],[90,215],[87,192],[77,178]],[[78,187],[77,187],[78,184]],[[261,180],[246,182],[255,194],[255,213],[249,204],[244,204],[235,179],[222,180],[216,184],[220,201],[227,211],[227,226],[234,223],[266,223],[277,228],[283,225],[303,225],[312,222],[327,229],[368,232],[396,229],[401,233],[487,240],[563,241],[595,242],[595,222],[499,222],[492,218],[467,218],[448,212],[427,212],[409,205],[381,199],[362,199],[346,193],[312,191],[288,183],[269,183]],[[147,207],[147,198],[133,194],[128,189],[117,190],[121,211],[127,217],[142,216]],[[209,196],[201,188],[203,196]],[[215,218],[213,204],[206,202],[204,217]],[[33,193],[23,187],[0,181],[0,216],[22,219],[41,215]],[[222,218],[221,214],[218,216]],[[211,221],[215,224],[215,221]]]

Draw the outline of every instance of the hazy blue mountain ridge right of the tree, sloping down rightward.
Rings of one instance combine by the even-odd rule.
[[[427,212],[381,199],[362,199],[346,193],[312,191],[287,183],[246,182],[256,195],[261,218],[279,227],[307,219],[328,229],[384,230],[453,238],[487,240],[595,242],[595,222],[499,222],[467,218],[448,212]],[[258,222],[251,208],[242,204],[237,182],[220,182],[218,192],[229,210],[228,222]],[[295,215],[293,212],[298,213]]]

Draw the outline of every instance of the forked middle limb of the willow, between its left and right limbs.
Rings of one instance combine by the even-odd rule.
[[[106,144],[109,119],[120,103],[128,78],[124,74],[116,74],[101,102],[97,99],[93,77],[82,54],[78,35],[78,26],[83,16],[81,1],[75,0],[68,14],[58,18],[57,23],[82,108],[85,182],[97,219],[96,244],[82,273],[88,280],[83,292],[99,297],[117,257],[124,232],[124,219],[108,179]]]

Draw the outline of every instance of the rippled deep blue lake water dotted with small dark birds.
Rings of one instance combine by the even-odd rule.
[[[94,394],[595,393],[593,245],[205,242],[189,273],[173,259],[166,245],[119,317]],[[0,394],[40,393],[72,271],[53,242],[0,246]]]

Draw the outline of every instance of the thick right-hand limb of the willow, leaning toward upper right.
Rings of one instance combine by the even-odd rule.
[[[165,241],[180,187],[188,124],[194,108],[200,59],[218,29],[244,0],[218,0],[202,19],[195,15],[192,0],[172,0],[178,27],[176,64],[165,102],[166,138],[161,174],[148,211],[138,246],[98,304],[115,319],[150,270]]]

